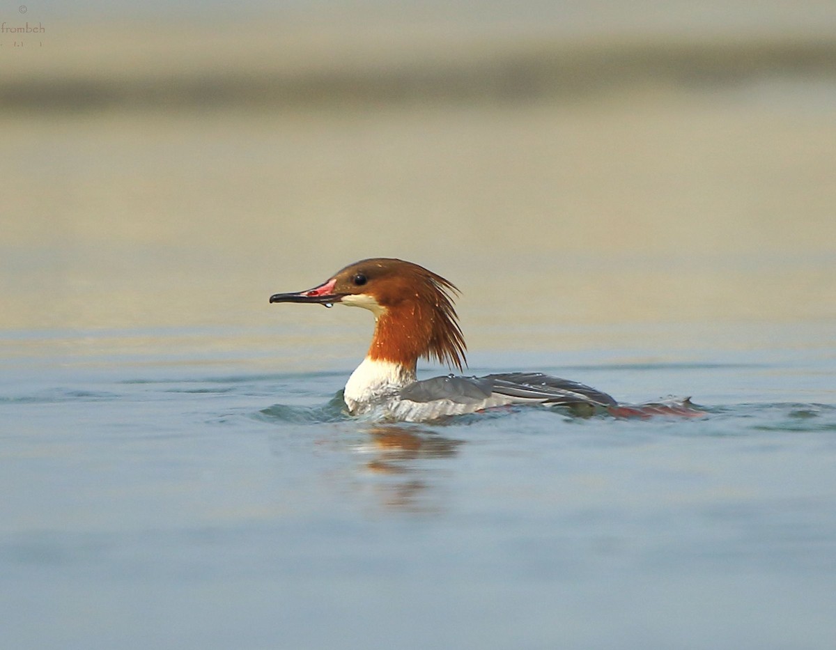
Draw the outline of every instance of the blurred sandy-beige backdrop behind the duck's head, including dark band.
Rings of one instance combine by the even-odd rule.
[[[836,317],[836,42],[814,30],[40,19],[38,48],[0,51],[9,350],[365,333],[267,298],[366,256],[456,282],[487,346],[521,323],[538,348],[549,323]]]

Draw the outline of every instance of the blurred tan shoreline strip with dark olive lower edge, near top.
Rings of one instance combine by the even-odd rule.
[[[812,33],[572,40],[408,28],[46,28],[39,45],[0,52],[0,110],[483,103],[836,79],[836,38]]]

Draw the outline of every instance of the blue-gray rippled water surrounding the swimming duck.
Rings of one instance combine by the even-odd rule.
[[[612,343],[635,329],[602,326],[609,343],[560,365],[494,353],[472,371],[540,369],[623,399],[688,390],[705,417],[380,425],[334,403],[349,366],[165,349],[234,330],[7,358],[4,646],[833,647],[832,323]]]

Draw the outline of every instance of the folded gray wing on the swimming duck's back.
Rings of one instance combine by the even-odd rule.
[[[608,394],[583,383],[552,377],[543,373],[499,373],[485,377],[433,377],[400,389],[400,398],[412,402],[449,399],[455,404],[478,404],[502,395],[507,402],[541,402],[543,404],[590,404],[614,406]]]

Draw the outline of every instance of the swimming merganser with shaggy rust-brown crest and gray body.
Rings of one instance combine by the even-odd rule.
[[[559,405],[584,415],[701,413],[688,399],[619,404],[583,383],[543,373],[450,374],[419,381],[415,374],[419,358],[436,359],[460,372],[466,365],[452,294],[459,294],[455,285],[424,267],[377,257],[354,262],[313,289],[276,293],[270,302],[313,302],[325,307],[339,302],[375,315],[369,352],[345,384],[344,401],[354,415],[426,422],[509,404]]]

